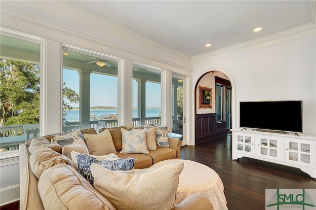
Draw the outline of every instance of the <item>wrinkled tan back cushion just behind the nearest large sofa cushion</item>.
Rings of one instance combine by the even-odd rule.
[[[40,175],[46,169],[49,169],[57,164],[66,163],[75,167],[73,162],[66,157],[50,148],[38,149],[30,155],[30,166],[33,174],[39,179]]]

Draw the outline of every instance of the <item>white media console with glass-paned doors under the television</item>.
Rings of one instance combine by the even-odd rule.
[[[232,158],[249,157],[301,169],[316,178],[316,136],[245,129],[233,132]]]

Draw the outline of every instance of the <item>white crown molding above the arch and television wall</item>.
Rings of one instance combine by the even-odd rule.
[[[229,47],[214,50],[212,52],[200,54],[192,57],[192,64],[204,62],[214,58],[226,57],[229,55],[248,52],[264,47],[274,46],[277,44],[293,41],[307,36],[316,35],[316,24],[306,24],[287,31],[267,35],[261,38],[252,39],[250,41],[238,43]]]

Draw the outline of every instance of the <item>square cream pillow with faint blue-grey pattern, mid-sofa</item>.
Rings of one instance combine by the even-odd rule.
[[[130,153],[140,153],[148,154],[146,144],[146,130],[136,129],[133,131],[127,131],[125,129],[120,130],[122,132],[122,150],[120,153],[130,154]]]

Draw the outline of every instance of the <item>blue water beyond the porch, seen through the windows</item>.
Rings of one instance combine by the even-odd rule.
[[[96,117],[100,117],[103,114],[118,113],[118,109],[90,109],[90,114],[96,114]],[[146,117],[158,117],[161,115],[160,108],[148,108],[146,109]],[[137,118],[137,109],[133,109],[133,118]],[[66,120],[68,122],[79,121],[79,110],[73,109],[67,111]]]

